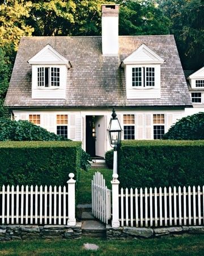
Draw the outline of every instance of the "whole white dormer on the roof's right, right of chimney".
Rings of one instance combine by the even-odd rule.
[[[127,98],[160,98],[160,65],[164,59],[142,44],[124,61]]]

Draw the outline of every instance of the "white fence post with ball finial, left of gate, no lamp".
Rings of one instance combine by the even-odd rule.
[[[68,226],[76,225],[75,218],[75,180],[73,179],[74,174],[69,174],[70,179],[67,181],[68,184]]]

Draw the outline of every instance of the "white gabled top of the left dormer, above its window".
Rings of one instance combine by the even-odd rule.
[[[58,53],[50,44],[47,44],[36,55],[28,60],[29,64],[65,64],[67,68],[71,67],[70,62]]]

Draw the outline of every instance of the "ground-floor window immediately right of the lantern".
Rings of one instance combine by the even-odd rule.
[[[124,115],[124,139],[135,139],[135,117],[134,115]]]

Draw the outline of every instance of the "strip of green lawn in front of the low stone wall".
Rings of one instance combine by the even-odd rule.
[[[0,255],[203,255],[203,235],[156,238],[150,240],[108,241],[99,238],[80,240],[32,240],[0,242]],[[97,251],[83,249],[95,243]]]

